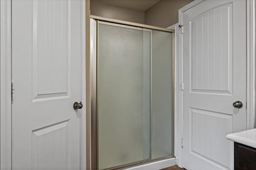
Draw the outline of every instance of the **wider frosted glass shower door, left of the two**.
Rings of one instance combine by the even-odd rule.
[[[98,168],[150,159],[151,30],[98,22]]]

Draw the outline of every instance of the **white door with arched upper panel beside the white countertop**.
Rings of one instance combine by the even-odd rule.
[[[232,169],[226,134],[246,129],[246,1],[205,0],[182,18],[183,166]]]

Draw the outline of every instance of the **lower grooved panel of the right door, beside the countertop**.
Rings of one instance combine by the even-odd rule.
[[[232,131],[232,116],[200,109],[190,109],[190,113],[191,152],[228,167],[229,141],[225,136]]]

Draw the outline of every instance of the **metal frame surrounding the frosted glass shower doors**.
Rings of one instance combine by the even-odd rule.
[[[127,27],[127,28],[134,28],[134,29],[138,29],[138,30],[147,30],[151,29],[151,30],[160,30],[160,31],[164,31],[164,32],[171,32],[172,33],[172,91],[174,91],[174,30],[170,30],[167,28],[160,28],[160,27],[156,27],[156,26],[149,26],[149,25],[145,25],[145,24],[138,24],[138,23],[134,23],[134,22],[126,22],[126,21],[122,21],[122,20],[116,20],[116,19],[111,19],[111,18],[104,18],[104,17],[100,17],[100,16],[93,16],[90,15],[90,18],[94,19],[95,25],[94,25],[94,31],[92,32],[92,30],[90,30],[90,35],[94,35],[94,41],[91,41],[90,43],[94,43],[93,47],[90,47],[90,69],[89,69],[89,79],[90,79],[90,93],[89,93],[89,99],[90,99],[90,131],[89,136],[90,136],[90,148],[86,148],[86,150],[90,150],[89,152],[89,159],[90,160],[90,168],[91,169],[95,169],[98,170],[98,115],[97,115],[97,95],[98,95],[98,91],[97,91],[97,82],[98,82],[98,24],[99,23],[104,23],[104,24],[109,24],[109,25],[119,25],[121,27]],[[92,23],[90,23],[91,25]],[[150,31],[151,31],[150,30]],[[92,44],[91,44],[92,45]],[[86,73],[87,74],[87,73]],[[151,78],[150,78],[151,79]],[[150,100],[151,101],[151,100]],[[174,93],[172,94],[172,105],[174,106]],[[172,108],[172,120],[174,120],[174,107]],[[86,113],[87,114],[87,113]],[[88,118],[88,115],[86,116],[86,119]],[[174,130],[174,123],[172,125],[172,129]],[[87,131],[87,130],[86,130]],[[88,135],[88,134],[87,134]],[[172,134],[173,138],[174,138],[174,133]],[[172,142],[172,148],[174,149],[174,142]],[[133,162],[133,163],[129,163],[129,164],[123,164],[120,166],[115,166],[112,168],[107,168],[104,170],[122,170],[125,168],[131,168],[134,166],[139,166],[139,165],[144,165],[144,164],[148,164],[148,163],[152,163],[152,162],[156,162],[156,161],[160,161],[160,160],[165,160],[165,159],[169,159],[169,158],[174,158],[174,153],[173,155],[170,156],[164,156],[161,158],[155,158],[155,159],[150,159],[150,160],[141,160],[138,162]],[[88,162],[89,163],[89,162]]]

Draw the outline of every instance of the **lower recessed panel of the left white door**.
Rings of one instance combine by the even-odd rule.
[[[67,169],[68,121],[32,131],[32,169]]]

